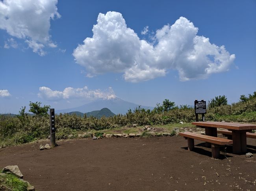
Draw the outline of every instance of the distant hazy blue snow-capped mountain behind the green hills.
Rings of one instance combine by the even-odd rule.
[[[90,111],[100,110],[104,107],[110,109],[115,114],[118,114],[118,113],[126,114],[129,109],[132,109],[133,111],[136,107],[139,107],[139,105],[124,101],[115,95],[110,95],[80,107],[56,110],[55,113],[70,113],[73,111],[87,113]],[[154,107],[149,107],[149,106],[141,106],[141,108],[150,109],[150,110],[154,109]]]

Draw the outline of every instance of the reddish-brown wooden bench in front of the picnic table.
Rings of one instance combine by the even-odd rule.
[[[179,135],[184,136],[184,138],[187,139],[187,147],[189,151],[193,150],[195,147],[194,139],[211,143],[211,155],[213,158],[219,158],[219,147],[233,144],[232,140],[215,136],[201,135],[191,132],[180,132]]]

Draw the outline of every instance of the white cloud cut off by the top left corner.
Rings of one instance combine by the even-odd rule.
[[[43,47],[57,47],[49,35],[50,20],[59,18],[58,0],[0,1],[0,29],[24,39],[33,52],[45,55]]]

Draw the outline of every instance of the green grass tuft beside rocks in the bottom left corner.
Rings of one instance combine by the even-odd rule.
[[[0,172],[1,173],[1,172]],[[0,190],[6,191],[26,191],[28,184],[22,182],[16,175],[4,173],[0,175]]]

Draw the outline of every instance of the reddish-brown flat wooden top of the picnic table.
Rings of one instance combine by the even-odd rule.
[[[223,128],[223,129],[234,129],[234,130],[252,130],[252,129],[256,129],[256,124],[239,124],[239,123],[213,122],[213,121],[192,122],[192,125],[201,126],[201,127],[215,127],[215,128]]]

